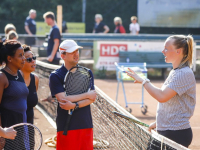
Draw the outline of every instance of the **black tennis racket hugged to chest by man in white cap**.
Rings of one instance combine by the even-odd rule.
[[[64,89],[66,95],[78,95],[90,91],[92,87],[92,76],[89,69],[76,66],[71,68],[64,78]],[[68,117],[65,123],[65,128],[63,135],[67,135],[67,131],[70,124],[70,119],[72,117],[74,110],[68,111]]]

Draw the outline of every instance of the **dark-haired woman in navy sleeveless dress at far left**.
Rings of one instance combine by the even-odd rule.
[[[18,41],[0,43],[0,125],[10,127],[27,121],[28,88],[19,72],[24,65],[24,49]]]

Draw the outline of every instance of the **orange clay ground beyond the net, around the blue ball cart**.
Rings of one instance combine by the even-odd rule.
[[[151,81],[155,86],[161,87],[163,81]],[[105,92],[110,98],[115,100],[117,91],[117,81],[116,80],[95,80],[95,85],[98,86],[103,92]],[[126,90],[126,97],[128,102],[141,102],[142,87],[141,84],[133,84],[133,82],[124,83]],[[190,119],[190,124],[193,130],[193,141],[190,145],[192,150],[200,150],[200,80],[196,84],[196,108],[194,115]],[[144,102],[148,106],[148,112],[146,115],[141,113],[141,105],[129,104],[128,106],[132,108],[132,114],[140,119],[141,121],[150,124],[156,119],[156,109],[157,101],[151,97],[146,91],[144,92]],[[124,95],[122,91],[122,86],[120,84],[118,92],[118,103],[125,108]]]

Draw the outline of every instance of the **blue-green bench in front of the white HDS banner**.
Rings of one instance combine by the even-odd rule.
[[[172,64],[165,62],[165,57],[161,52],[130,52],[120,51],[119,62],[144,63],[147,68],[162,69],[162,77],[165,78],[167,68],[172,68]]]

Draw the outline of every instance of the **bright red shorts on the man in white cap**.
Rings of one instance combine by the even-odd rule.
[[[93,150],[93,129],[69,130],[57,132],[57,150]]]

